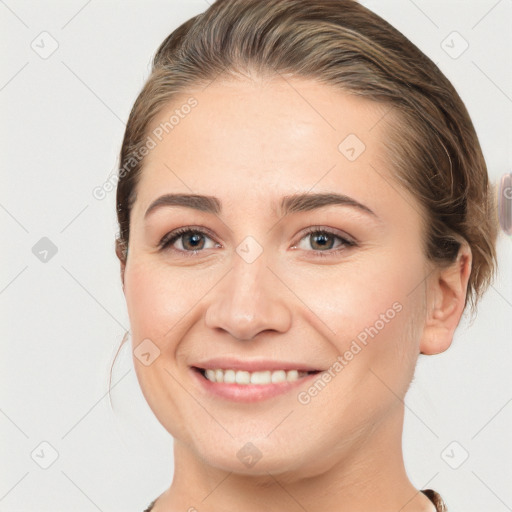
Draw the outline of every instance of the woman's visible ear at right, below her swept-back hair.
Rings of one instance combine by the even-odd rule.
[[[421,354],[439,354],[452,343],[464,311],[471,273],[471,249],[464,242],[449,267],[436,269],[428,285],[426,317],[420,341]]]

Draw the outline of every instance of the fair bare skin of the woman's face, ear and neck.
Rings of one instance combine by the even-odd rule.
[[[471,253],[444,269],[426,260],[421,207],[393,182],[383,145],[392,114],[305,79],[217,79],[151,128],[191,94],[198,106],[146,157],[121,267],[133,348],[149,338],[160,350],[148,366],[134,357],[137,378],[175,439],[155,512],[433,511],[404,469],[403,397],[418,355],[452,341]],[[366,146],[353,162],[338,150],[348,134]],[[163,207],[144,220],[178,192],[215,196],[222,212]],[[333,205],[280,217],[274,206],[297,192],[346,194],[376,217]],[[357,246],[319,248],[313,225]],[[184,226],[210,230],[202,252],[184,255],[186,235],[158,248]],[[252,263],[236,252],[249,235],[263,250]],[[243,404],[191,377],[190,365],[218,356],[328,369],[394,303],[401,311],[308,404],[297,394],[311,384]],[[261,453],[252,467],[236,455],[248,442]]]

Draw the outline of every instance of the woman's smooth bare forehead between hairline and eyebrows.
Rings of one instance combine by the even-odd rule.
[[[170,191],[261,201],[315,187],[367,197],[389,172],[388,114],[384,104],[312,80],[216,80],[176,97],[153,120],[156,145],[136,204]]]

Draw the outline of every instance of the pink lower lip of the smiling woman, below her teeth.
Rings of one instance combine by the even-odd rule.
[[[312,373],[291,382],[286,381],[271,384],[227,384],[225,382],[212,382],[206,377],[203,377],[201,372],[194,368],[191,368],[191,372],[193,377],[206,392],[233,402],[260,402],[278,395],[283,395],[319,375],[318,373]]]

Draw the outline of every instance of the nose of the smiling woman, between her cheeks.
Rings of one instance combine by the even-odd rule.
[[[283,333],[290,328],[289,291],[263,255],[252,263],[235,255],[233,267],[214,290],[205,313],[210,329],[245,341],[263,331]]]

